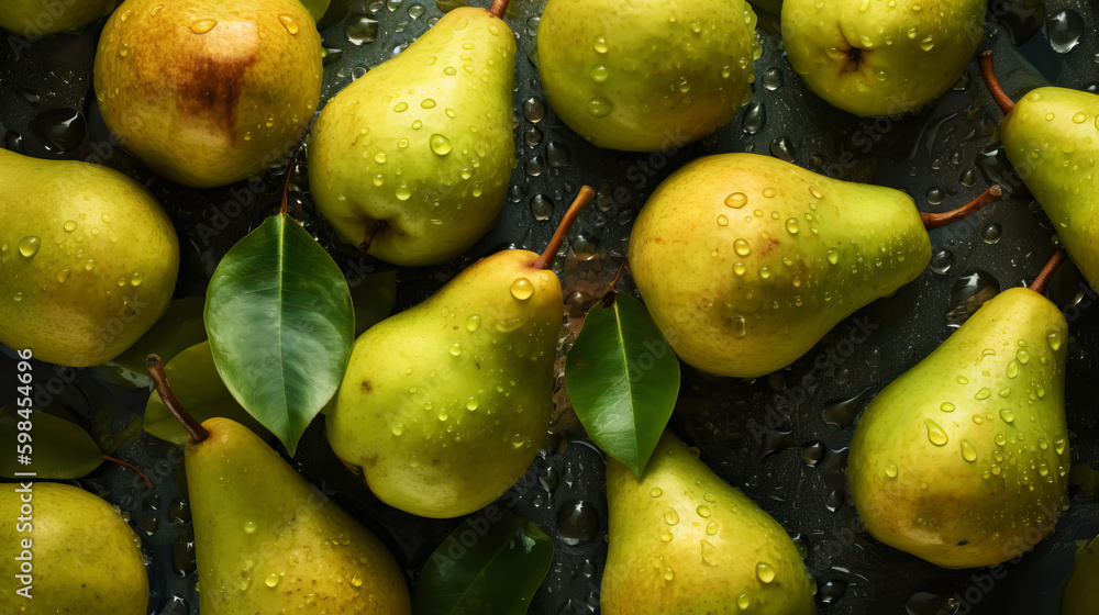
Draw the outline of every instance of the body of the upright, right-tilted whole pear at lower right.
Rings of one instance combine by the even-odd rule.
[[[1067,326],[1041,294],[1006,290],[874,398],[847,481],[875,538],[972,568],[1053,532],[1070,463]]]

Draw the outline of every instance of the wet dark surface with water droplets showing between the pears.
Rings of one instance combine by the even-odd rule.
[[[1028,282],[1055,246],[1048,220],[999,149],[1000,112],[980,82],[976,62],[922,113],[859,120],[806,90],[782,56],[777,20],[761,15],[764,53],[755,63],[755,94],[732,123],[675,152],[604,152],[557,122],[544,102],[531,60],[543,5],[513,0],[507,16],[520,40],[514,93],[519,165],[499,224],[452,264],[401,270],[399,308],[419,302],[480,256],[512,246],[541,250],[576,190],[588,183],[599,192],[596,206],[581,214],[570,233],[570,251],[555,262],[558,271],[564,269],[571,315],[578,316],[621,264],[631,222],[648,193],[673,170],[704,154],[770,154],[832,177],[903,189],[924,211],[952,209],[1000,182],[1011,191],[1009,198],[973,220],[931,232],[932,266],[893,297],[855,315],[877,326],[865,342],[851,342],[855,325],[848,320],[806,357],[766,378],[719,379],[685,367],[673,427],[795,537],[818,579],[819,613],[1057,613],[1075,540],[1099,533],[1099,505],[1086,484],[1086,466],[1099,468],[1099,298],[1070,265],[1061,268],[1048,291],[1065,309],[1073,336],[1067,413],[1073,459],[1079,465],[1057,532],[1020,561],[1004,564],[997,574],[1002,578],[992,579],[986,570],[947,571],[858,532],[845,492],[846,447],[866,402],[935,348],[980,301]],[[347,16],[322,31],[329,47],[322,101],[399,53],[440,14],[434,1],[353,0]],[[1097,16],[1099,5],[1084,0],[992,0],[980,48],[995,51],[997,74],[1013,98],[1041,85],[1095,91]],[[118,148],[91,89],[101,25],[26,45],[0,33],[0,134],[4,147],[32,156],[98,155],[149,186],[181,238],[177,298],[202,295],[221,256],[278,208],[286,172],[293,174],[291,211],[349,278],[386,268],[333,239],[331,227],[313,213],[301,163],[273,169],[241,206],[234,194],[244,183],[185,189],[152,176]],[[619,188],[626,190],[628,200],[611,197]],[[218,232],[201,232],[199,225],[212,221]],[[623,288],[629,289],[628,278]],[[5,351],[0,374],[14,373],[12,365]],[[109,368],[40,365],[36,374],[42,406],[69,411],[106,449],[154,479],[149,491],[135,487],[132,474],[101,467],[79,482],[118,505],[142,537],[153,591],[149,613],[197,613],[180,457],[141,432],[147,391]],[[7,379],[0,383],[0,405],[13,399],[11,389]],[[607,552],[603,462],[569,416],[566,398],[558,394],[558,401],[562,418],[506,500],[518,502],[510,507],[556,543],[554,564],[530,613],[596,613]],[[458,523],[421,519],[379,503],[336,461],[321,417],[291,462],[310,480],[336,490],[336,500],[391,546],[410,580]]]

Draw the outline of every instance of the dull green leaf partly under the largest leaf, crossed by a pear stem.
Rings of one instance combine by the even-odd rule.
[[[209,342],[201,342],[176,355],[164,366],[164,372],[180,405],[199,423],[214,416],[223,416],[243,424],[260,437],[269,435],[263,425],[236,403],[225,383],[221,381],[218,368],[213,365]],[[145,402],[145,420],[142,422],[142,427],[162,440],[173,444],[187,441],[187,431],[168,412],[156,391],[153,391]]]

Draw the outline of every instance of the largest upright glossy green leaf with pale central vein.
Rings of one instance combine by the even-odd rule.
[[[351,356],[355,311],[343,272],[300,224],[274,215],[218,264],[206,326],[225,387],[293,455]]]

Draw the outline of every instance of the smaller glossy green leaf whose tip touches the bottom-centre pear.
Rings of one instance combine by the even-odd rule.
[[[591,439],[639,477],[679,395],[679,360],[645,308],[608,293],[584,318],[565,384]]]

